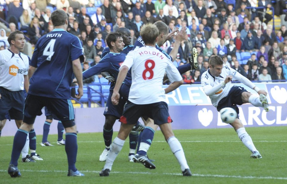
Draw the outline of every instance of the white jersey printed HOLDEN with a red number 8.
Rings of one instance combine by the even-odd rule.
[[[155,47],[144,46],[130,51],[122,66],[132,68],[129,101],[135,104],[165,102],[162,88],[165,72],[171,82],[182,80],[170,59]]]

